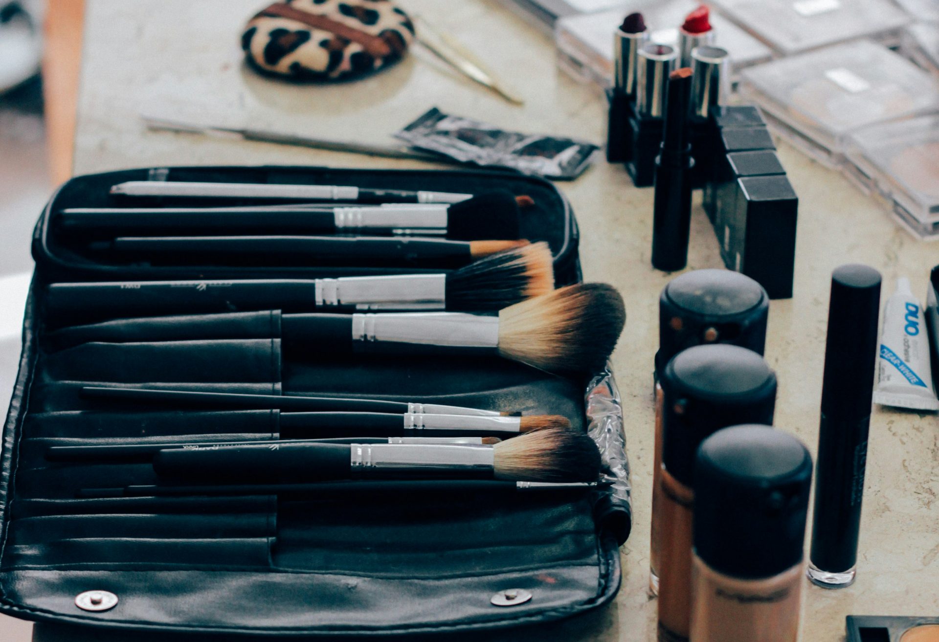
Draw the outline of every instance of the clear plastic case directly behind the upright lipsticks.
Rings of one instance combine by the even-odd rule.
[[[677,46],[679,25],[698,5],[694,0],[629,0],[615,10],[563,18],[555,29],[559,65],[576,78],[608,87],[613,78],[613,32],[625,15],[641,12],[652,41]],[[731,54],[731,78],[740,69],[772,57],[769,47],[727,18],[712,12],[711,23],[716,46]]]

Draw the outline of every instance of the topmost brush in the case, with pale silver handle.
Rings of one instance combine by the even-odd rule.
[[[343,185],[280,183],[211,183],[179,180],[131,180],[111,187],[115,196],[159,198],[263,198],[348,203],[459,203],[472,194],[450,191],[376,190]]]

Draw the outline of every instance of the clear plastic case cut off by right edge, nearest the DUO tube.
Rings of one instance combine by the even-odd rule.
[[[939,115],[855,131],[847,159],[917,237],[939,239]]]

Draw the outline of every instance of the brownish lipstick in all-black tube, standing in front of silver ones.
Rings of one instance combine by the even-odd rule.
[[[661,153],[655,159],[655,200],[652,228],[652,265],[667,272],[682,269],[688,261],[691,225],[691,181],[694,166],[688,143],[688,98],[691,69],[669,76],[669,106]]]

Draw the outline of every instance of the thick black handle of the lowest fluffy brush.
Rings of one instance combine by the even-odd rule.
[[[158,451],[161,479],[203,483],[304,483],[349,477],[350,447],[340,444],[270,443]]]

